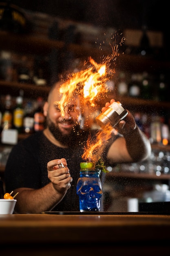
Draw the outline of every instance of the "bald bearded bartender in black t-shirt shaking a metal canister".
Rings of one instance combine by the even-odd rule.
[[[9,155],[4,181],[6,192],[19,192],[15,213],[79,211],[76,183],[91,130],[80,129],[81,106],[77,96],[61,113],[57,104],[61,100],[61,83],[53,85],[44,103],[46,128],[19,141]],[[107,102],[102,111],[113,101]],[[150,155],[150,142],[130,111],[115,129],[117,134],[112,133],[101,155],[106,166],[138,162]]]

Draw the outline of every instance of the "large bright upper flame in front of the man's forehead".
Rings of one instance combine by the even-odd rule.
[[[88,62],[90,67],[69,74],[67,81],[60,86],[61,100],[57,104],[61,115],[64,115],[64,108],[76,95],[79,95],[86,106],[90,105],[91,107],[95,107],[95,100],[106,96],[108,91],[106,82],[115,73],[115,70],[110,72],[110,59],[106,58],[104,63],[98,64],[89,57]]]

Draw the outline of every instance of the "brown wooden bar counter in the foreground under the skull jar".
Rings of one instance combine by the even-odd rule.
[[[0,215],[0,255],[170,255],[170,215]]]

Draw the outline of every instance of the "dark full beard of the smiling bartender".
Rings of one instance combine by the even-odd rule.
[[[67,135],[63,135],[63,133],[60,131],[58,127],[55,126],[50,120],[47,120],[48,122],[48,128],[50,132],[53,134],[55,139],[59,141],[63,146],[71,146],[75,145],[77,139],[78,139],[78,130],[79,125],[73,127],[73,130]]]

